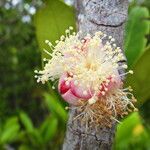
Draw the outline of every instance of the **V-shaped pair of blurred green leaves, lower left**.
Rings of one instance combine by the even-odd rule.
[[[58,120],[56,117],[48,116],[39,127],[34,127],[29,116],[23,112],[20,114],[20,119],[24,125],[23,134],[20,139],[20,149],[30,147],[31,150],[46,150],[51,147],[51,140],[56,137],[58,130]]]

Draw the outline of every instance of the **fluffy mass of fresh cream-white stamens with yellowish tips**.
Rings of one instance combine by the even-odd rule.
[[[102,32],[96,32],[94,36],[87,34],[80,39],[79,33],[71,35],[70,30],[72,27],[66,30],[66,37],[61,36],[60,41],[56,41],[56,46],[46,40],[52,49],[52,53],[48,53],[51,59],[46,63],[44,70],[38,72],[37,81],[45,83],[48,80],[59,79],[67,72],[72,74],[68,78],[69,82],[80,83],[79,86],[97,94],[100,86],[108,79],[119,83],[119,76],[123,74],[119,75],[118,69],[127,66],[118,65],[118,61],[124,60],[124,56],[119,47],[113,46],[114,39],[109,36],[109,40],[104,43],[103,38],[106,35]],[[106,86],[102,95],[105,95],[108,89]]]

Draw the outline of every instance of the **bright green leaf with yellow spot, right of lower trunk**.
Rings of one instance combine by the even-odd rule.
[[[149,135],[144,129],[138,113],[131,114],[118,125],[114,149],[148,150],[149,147]]]

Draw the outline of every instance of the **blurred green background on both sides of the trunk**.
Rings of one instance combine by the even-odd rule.
[[[0,0],[0,150],[59,150],[68,112],[57,91],[37,84],[43,48],[75,27],[72,0]],[[114,150],[150,150],[150,1],[130,0],[124,50],[139,112],[118,124]]]

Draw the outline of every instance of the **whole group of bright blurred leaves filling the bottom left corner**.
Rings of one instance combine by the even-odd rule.
[[[34,127],[30,117],[25,112],[21,112],[19,116],[19,118],[12,117],[8,119],[0,127],[0,149],[3,149],[7,143],[12,142],[19,143],[19,150],[46,150],[53,147],[51,140],[57,136],[56,133],[58,132],[56,117],[47,116],[39,127]],[[19,119],[21,124],[18,121]],[[20,130],[22,125],[22,130]]]

